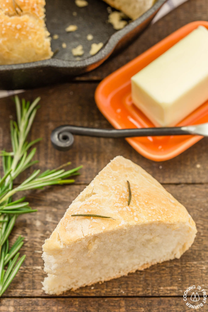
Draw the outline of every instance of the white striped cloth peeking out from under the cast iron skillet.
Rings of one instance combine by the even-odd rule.
[[[175,7],[178,7],[180,4],[186,1],[187,0],[168,0],[165,4],[163,4],[159,12],[156,14],[154,19],[152,20],[152,23],[157,22],[161,17],[163,17],[168,12],[172,11]],[[24,90],[0,90],[0,98],[22,92],[24,92]]]

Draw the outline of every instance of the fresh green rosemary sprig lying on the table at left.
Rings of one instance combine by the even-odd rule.
[[[19,214],[36,211],[36,209],[31,209],[28,202],[25,202],[25,197],[14,201],[13,195],[19,191],[42,189],[48,185],[73,183],[74,180],[68,178],[78,175],[78,170],[82,167],[65,171],[63,168],[70,164],[66,163],[43,173],[40,173],[38,169],[20,185],[13,187],[14,179],[38,162],[32,160],[36,149],[33,148],[30,152],[29,149],[41,139],[27,142],[27,136],[35,118],[39,100],[40,98],[37,98],[30,104],[23,99],[20,103],[19,98],[15,96],[17,122],[11,121],[10,123],[12,152],[1,151],[0,153],[4,171],[3,177],[0,178],[0,296],[7,289],[25,259],[25,255],[19,259],[18,252],[23,245],[24,237],[19,236],[9,248],[9,234]]]

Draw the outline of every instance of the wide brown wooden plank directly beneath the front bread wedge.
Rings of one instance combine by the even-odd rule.
[[[41,246],[83,188],[84,185],[56,186],[28,194],[27,200],[38,212],[21,216],[16,221],[12,236],[25,236],[21,252],[27,256],[4,296],[46,296],[41,290],[41,281],[45,276]],[[165,188],[185,205],[196,222],[198,233],[191,248],[180,259],[166,261],[101,285],[68,291],[64,296],[176,296],[193,283],[208,285],[208,185],[165,185]]]

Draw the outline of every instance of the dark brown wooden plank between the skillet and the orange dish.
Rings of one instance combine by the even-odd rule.
[[[208,10],[206,0],[189,0],[175,10],[149,26],[132,44],[121,53],[111,56],[101,66],[76,80],[101,80],[117,70],[178,28],[193,21],[207,21]]]

